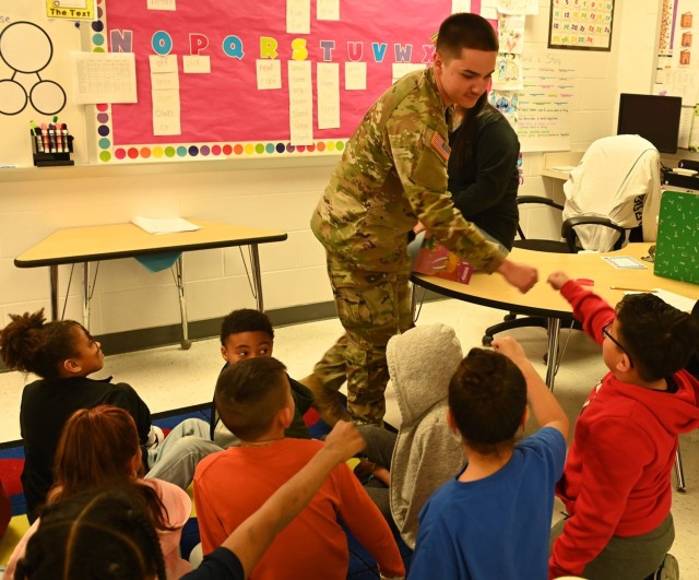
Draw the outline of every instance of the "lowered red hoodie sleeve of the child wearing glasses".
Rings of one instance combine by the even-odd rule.
[[[624,446],[618,442],[623,440]],[[629,453],[629,449],[633,449]],[[653,460],[649,435],[608,417],[591,426],[585,445],[580,495],[554,542],[549,578],[580,576],[606,546],[624,514],[643,465]],[[569,507],[569,508],[570,508]]]

